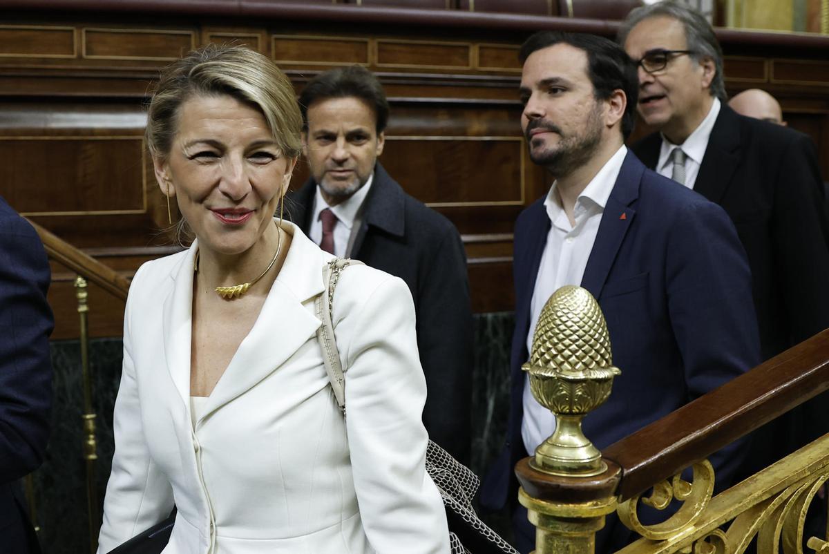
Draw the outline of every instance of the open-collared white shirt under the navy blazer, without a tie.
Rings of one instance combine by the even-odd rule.
[[[552,225],[547,233],[544,254],[541,255],[541,265],[532,293],[530,330],[526,336],[527,352],[532,350],[536,322],[550,296],[565,284],[581,284],[584,268],[587,267],[590,251],[593,250],[593,243],[599,232],[604,206],[608,202],[610,192],[613,191],[627,153],[628,148],[624,145],[619,148],[579,195],[574,207],[575,226],[570,225],[570,220],[561,207],[555,182],[550,187],[544,205]],[[525,379],[521,438],[524,440],[527,453],[533,454],[536,446],[541,445],[541,442],[555,431],[555,416],[536,401],[530,391],[530,377],[526,376]]]

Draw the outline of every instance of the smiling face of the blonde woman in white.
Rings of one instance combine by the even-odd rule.
[[[170,152],[153,158],[158,186],[175,194],[202,249],[245,252],[271,224],[296,159],[259,109],[230,95],[191,97],[175,120]]]

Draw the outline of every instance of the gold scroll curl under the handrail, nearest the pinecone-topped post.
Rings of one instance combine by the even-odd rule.
[[[714,468],[711,467],[710,462],[707,459],[697,462],[693,465],[693,471],[694,477],[691,483],[682,479],[681,475],[675,475],[671,483],[662,481],[661,484],[655,485],[651,496],[641,498],[642,495],[638,495],[619,504],[617,508],[619,519],[628,529],[654,541],[671,537],[676,532],[690,527],[700,518],[714,493]],[[640,499],[642,503],[663,510],[671,503],[672,498],[676,498],[683,504],[671,518],[655,525],[644,525],[639,521],[637,506]],[[700,547],[704,548],[703,545]]]

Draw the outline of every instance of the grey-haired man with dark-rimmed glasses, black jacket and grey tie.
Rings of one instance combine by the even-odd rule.
[[[691,7],[638,7],[618,41],[638,63],[638,113],[659,131],[633,152],[734,221],[749,257],[764,359],[829,328],[829,230],[811,139],[725,104],[720,44]],[[829,431],[827,413],[813,401],[760,430],[746,473]]]

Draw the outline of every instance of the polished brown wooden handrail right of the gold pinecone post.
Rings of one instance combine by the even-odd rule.
[[[633,498],[829,389],[829,329],[608,446]]]

